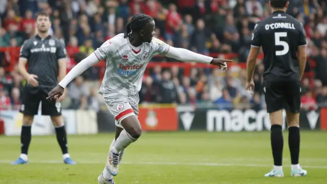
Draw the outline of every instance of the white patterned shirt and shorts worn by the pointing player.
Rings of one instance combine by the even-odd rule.
[[[153,56],[167,54],[169,47],[157,38],[133,47],[124,34],[118,34],[95,51],[99,61],[106,59],[107,68],[99,93],[115,117],[116,126],[123,128],[121,120],[134,114],[137,116],[138,91],[147,64]]]

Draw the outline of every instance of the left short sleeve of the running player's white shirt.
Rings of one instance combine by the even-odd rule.
[[[112,57],[112,54],[115,52],[116,49],[114,42],[114,38],[109,39],[104,42],[97,50],[94,51],[99,61]]]

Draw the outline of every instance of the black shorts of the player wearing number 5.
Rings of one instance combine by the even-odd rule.
[[[292,113],[300,112],[301,83],[299,80],[273,80],[264,82],[267,112],[285,109]]]

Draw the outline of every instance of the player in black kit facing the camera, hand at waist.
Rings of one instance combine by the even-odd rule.
[[[67,149],[67,136],[59,101],[48,101],[49,91],[66,75],[65,45],[48,34],[51,22],[45,13],[38,13],[35,22],[38,34],[24,42],[20,49],[18,70],[27,80],[22,93],[20,112],[24,114],[20,134],[21,154],[12,165],[28,163],[31,125],[41,102],[42,114],[51,116],[56,128],[57,141],[65,164],[75,164]],[[28,64],[28,70],[26,70]],[[62,99],[60,99],[62,100]]]

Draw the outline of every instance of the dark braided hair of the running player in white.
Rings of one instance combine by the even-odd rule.
[[[138,32],[141,31],[143,26],[151,22],[153,18],[144,13],[136,14],[132,19],[126,24],[126,31],[124,33],[124,38],[129,37],[132,34],[132,31]]]

